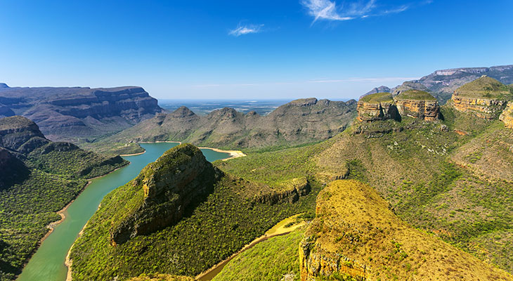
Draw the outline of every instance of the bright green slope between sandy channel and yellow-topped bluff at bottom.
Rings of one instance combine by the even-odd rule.
[[[304,230],[272,237],[242,252],[212,279],[225,280],[299,280],[297,245]]]

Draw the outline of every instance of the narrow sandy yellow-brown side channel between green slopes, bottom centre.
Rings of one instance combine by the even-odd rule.
[[[220,263],[217,263],[215,266],[212,266],[209,270],[204,271],[203,273],[200,273],[195,277],[195,280],[197,281],[208,281],[212,280],[216,275],[218,275],[221,270],[223,270],[224,266],[235,258],[235,256],[238,256],[243,251],[246,251],[247,249],[251,249],[256,244],[259,244],[260,242],[264,242],[272,237],[280,236],[280,235],[286,235],[288,233],[291,233],[296,228],[299,228],[301,226],[304,226],[306,224],[306,221],[301,221],[300,223],[296,223],[293,226],[287,227],[289,223],[294,223],[297,221],[297,217],[301,214],[296,214],[294,216],[290,216],[288,218],[285,218],[283,221],[280,221],[279,223],[276,223],[275,226],[273,226],[271,229],[267,230],[266,233],[260,237],[257,237],[249,244],[246,244],[242,249],[237,251],[235,254],[231,255],[228,259],[225,259],[224,261],[221,261]]]

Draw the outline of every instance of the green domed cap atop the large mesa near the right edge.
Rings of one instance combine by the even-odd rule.
[[[457,96],[467,98],[508,99],[513,97],[511,88],[491,77],[481,77],[456,89]]]

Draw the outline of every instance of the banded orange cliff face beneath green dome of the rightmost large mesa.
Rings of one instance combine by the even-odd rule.
[[[453,94],[454,108],[483,119],[496,119],[507,104],[506,100],[467,98]]]

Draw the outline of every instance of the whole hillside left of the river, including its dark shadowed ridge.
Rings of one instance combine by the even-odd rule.
[[[0,119],[0,280],[13,280],[85,187],[86,178],[128,164],[72,143],[49,141],[37,124],[20,117]]]

